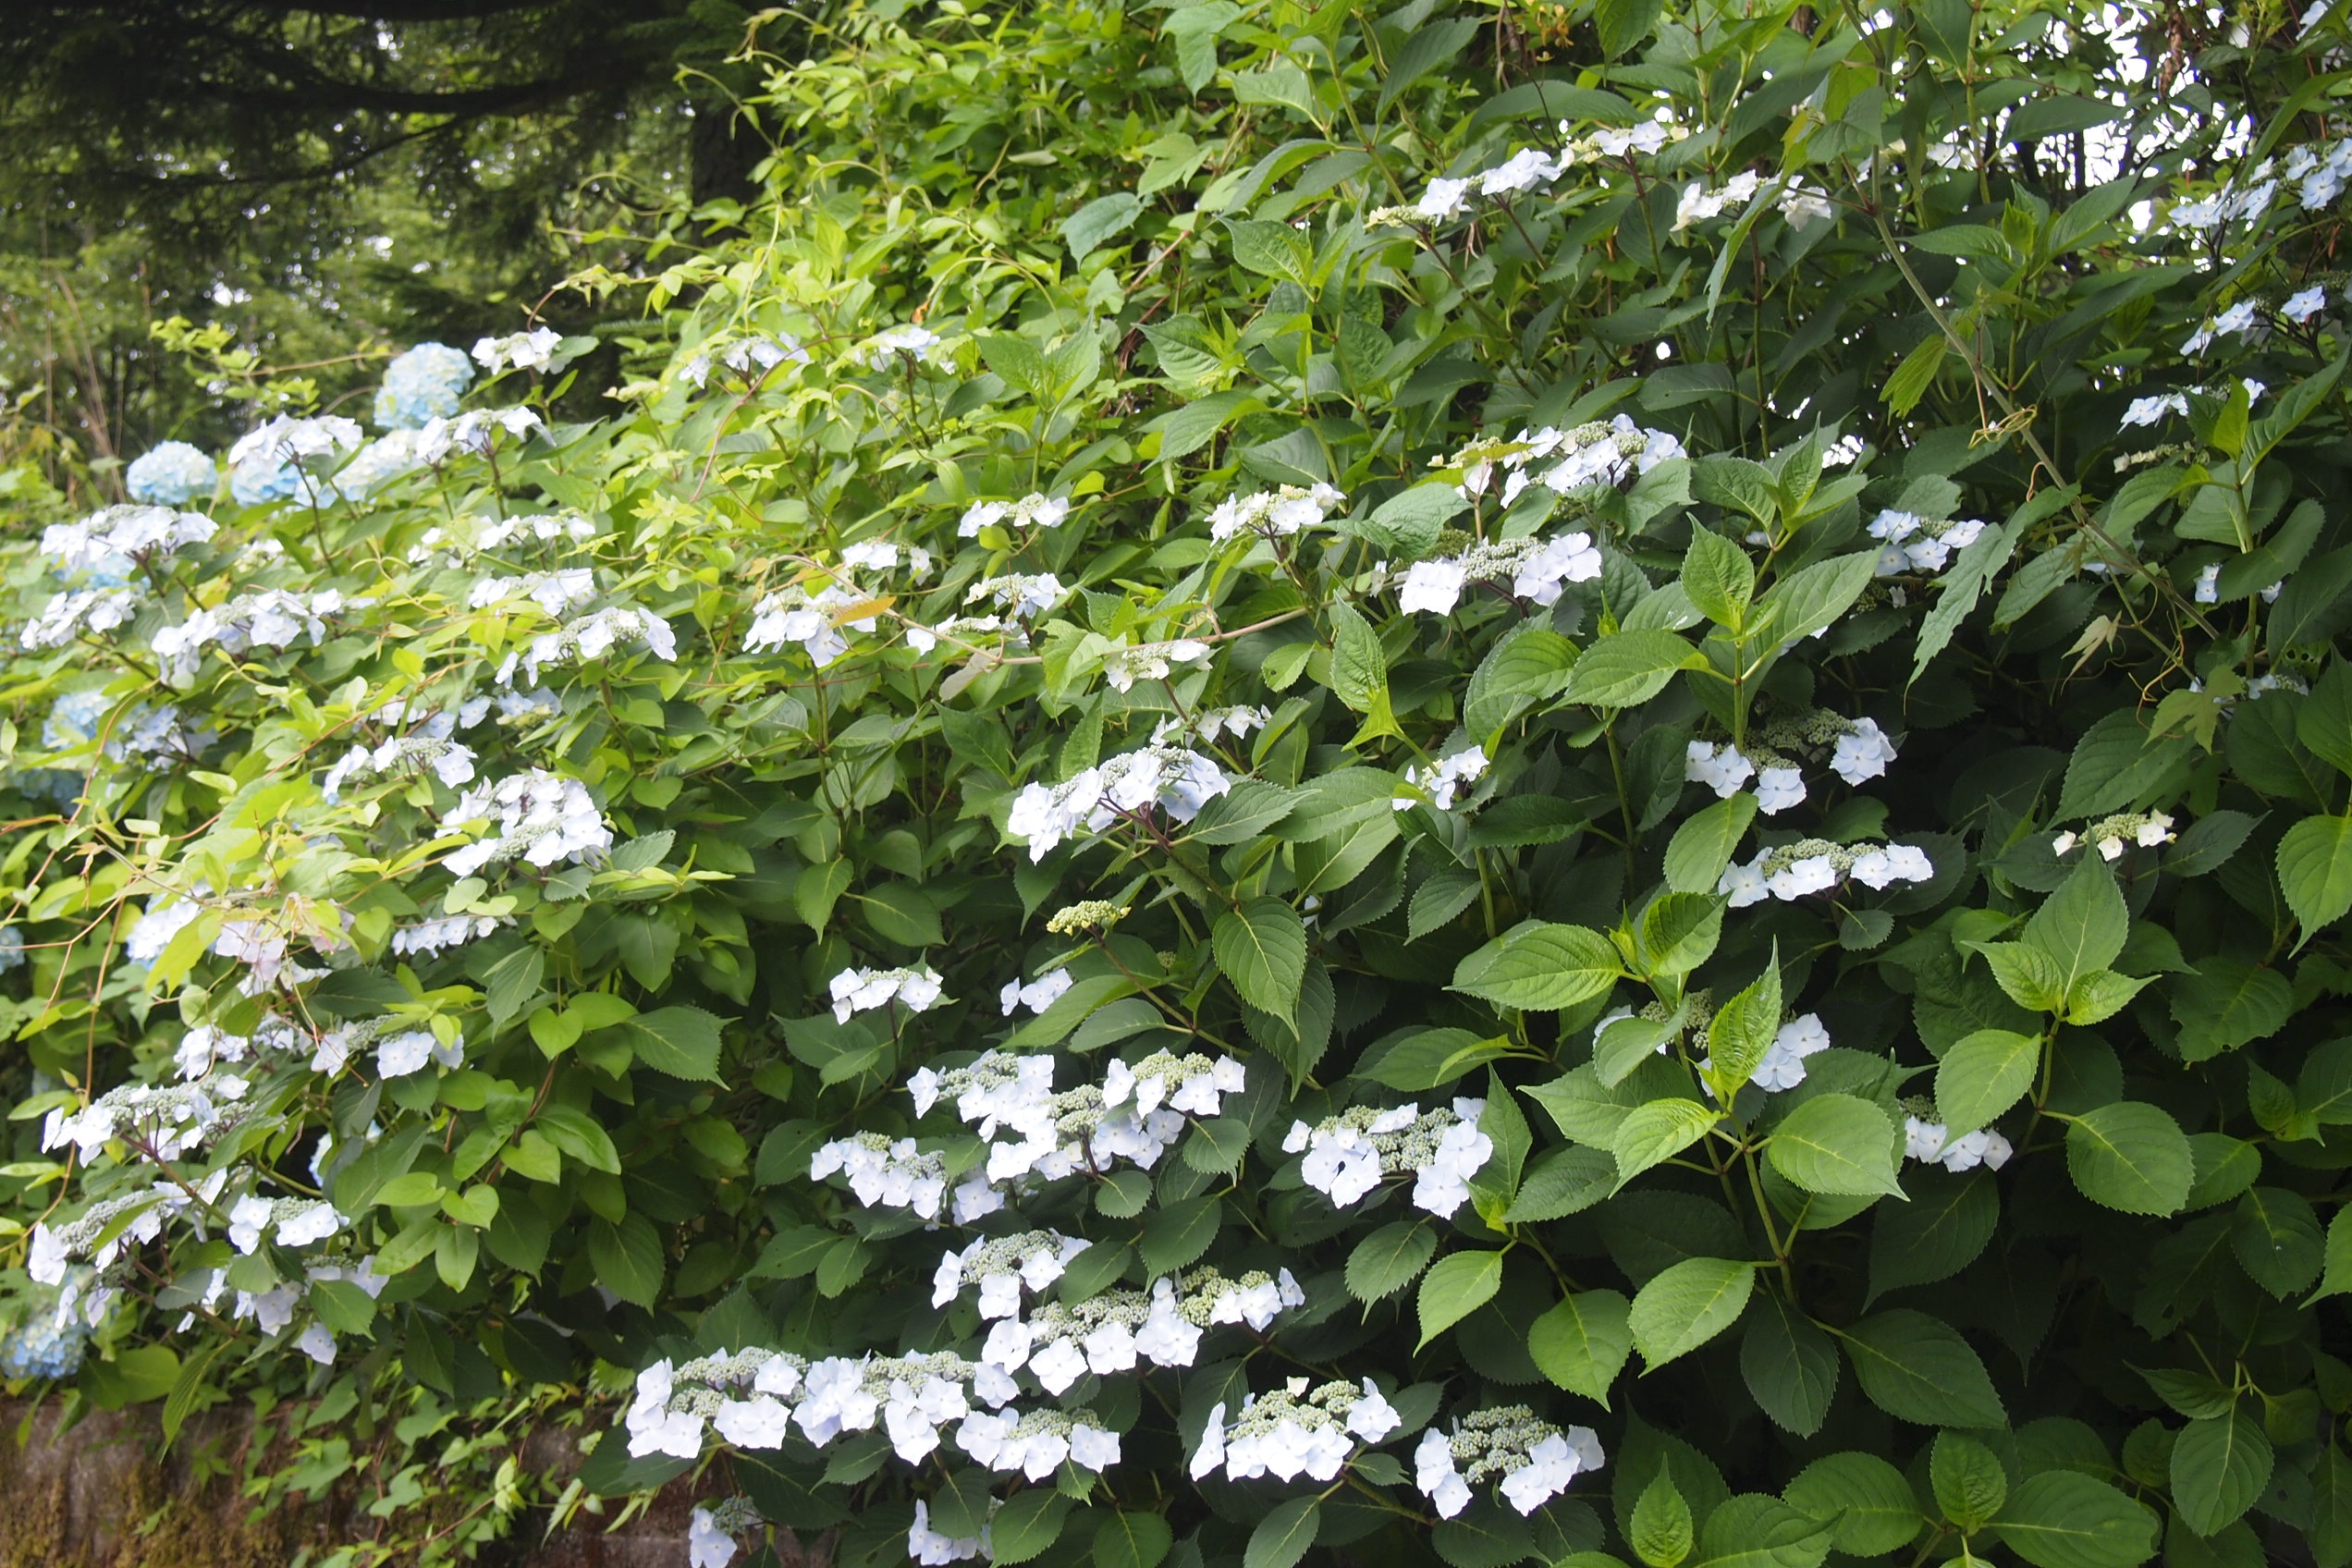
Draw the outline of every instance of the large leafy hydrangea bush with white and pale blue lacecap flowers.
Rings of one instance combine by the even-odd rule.
[[[16,548],[19,1316],[696,1566],[2340,1568],[2345,35],[2230,26],[851,14],[612,418]]]

